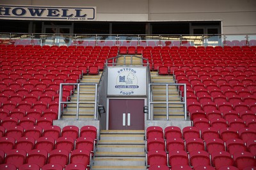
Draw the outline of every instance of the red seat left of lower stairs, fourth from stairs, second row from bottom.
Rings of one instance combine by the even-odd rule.
[[[6,157],[4,158],[5,164],[13,164],[17,168],[25,163],[26,151],[24,150],[9,150],[6,151]]]

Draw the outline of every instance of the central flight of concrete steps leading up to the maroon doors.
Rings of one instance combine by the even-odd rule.
[[[144,130],[101,130],[93,170],[146,169]]]

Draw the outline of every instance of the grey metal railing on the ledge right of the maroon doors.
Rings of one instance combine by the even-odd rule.
[[[166,92],[166,100],[164,102],[154,102],[153,101],[153,93],[152,93],[152,87],[153,86],[165,86]],[[172,104],[182,104],[184,107],[184,120],[187,120],[187,93],[186,90],[184,90],[184,97],[182,97],[182,100],[180,102],[169,102],[169,86],[183,86],[184,89],[186,89],[186,84],[165,84],[165,83],[150,83],[148,84],[148,120],[154,120],[154,118],[151,118],[151,107],[154,106],[154,104],[165,104],[166,105],[166,120],[169,120],[169,105]]]

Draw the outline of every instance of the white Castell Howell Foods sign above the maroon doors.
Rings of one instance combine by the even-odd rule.
[[[146,95],[146,68],[108,68],[108,95]]]

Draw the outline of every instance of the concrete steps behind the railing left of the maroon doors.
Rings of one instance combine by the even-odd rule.
[[[81,83],[99,83],[101,73],[99,75],[83,75]],[[77,90],[74,91],[74,95],[71,97],[71,102],[77,101]],[[95,102],[95,86],[86,85],[80,86],[80,102]],[[63,120],[76,120],[77,104],[68,104],[63,110]],[[79,120],[93,120],[94,119],[94,104],[79,104]]]

